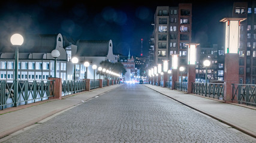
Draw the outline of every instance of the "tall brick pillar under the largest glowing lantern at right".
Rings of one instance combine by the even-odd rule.
[[[239,56],[238,54],[225,54],[224,67],[224,101],[231,102],[232,83],[239,83]]]

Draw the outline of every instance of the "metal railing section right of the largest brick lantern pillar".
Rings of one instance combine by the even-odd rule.
[[[256,105],[255,89],[256,85],[231,84],[232,85],[232,101],[239,104]]]

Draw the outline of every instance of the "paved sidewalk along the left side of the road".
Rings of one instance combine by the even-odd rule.
[[[105,86],[103,88],[92,89],[91,91],[68,95],[62,97],[62,100],[44,100],[0,110],[0,139],[20,129],[34,125],[53,114],[104,94],[118,86],[121,85]]]

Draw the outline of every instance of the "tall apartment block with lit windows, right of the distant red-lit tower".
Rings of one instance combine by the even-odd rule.
[[[179,54],[180,66],[187,66],[186,43],[191,43],[191,23],[192,4],[156,8],[153,24],[153,64],[162,64],[162,60],[171,61],[172,54]]]

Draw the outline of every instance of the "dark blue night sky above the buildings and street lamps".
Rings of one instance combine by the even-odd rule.
[[[61,33],[85,40],[112,39],[114,54],[147,55],[157,6],[192,3],[192,42],[223,44],[224,17],[231,17],[234,1],[88,2],[88,1],[1,1],[0,46],[10,45],[10,36]],[[25,39],[26,40],[26,39]],[[1,52],[1,51],[0,51]]]

